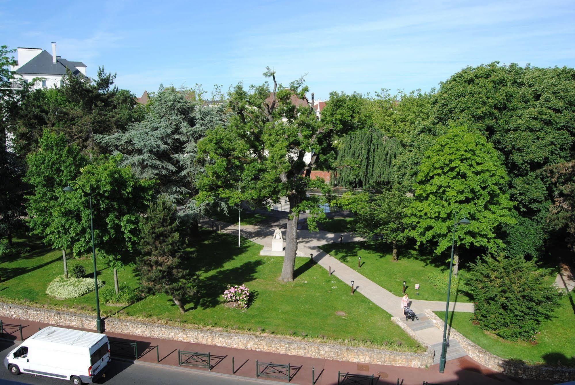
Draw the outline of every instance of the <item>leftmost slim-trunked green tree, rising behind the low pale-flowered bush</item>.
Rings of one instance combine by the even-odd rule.
[[[68,145],[63,134],[44,131],[38,149],[26,158],[26,180],[30,185],[26,208],[32,234],[43,238],[46,245],[62,249],[64,275],[68,277],[66,249],[78,238],[81,212],[70,204],[62,189],[75,180],[87,159],[77,146]]]

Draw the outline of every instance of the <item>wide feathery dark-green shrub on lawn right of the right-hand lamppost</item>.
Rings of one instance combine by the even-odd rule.
[[[523,257],[484,256],[471,265],[468,289],[482,329],[505,340],[534,340],[553,317],[561,294],[545,281],[549,269]]]

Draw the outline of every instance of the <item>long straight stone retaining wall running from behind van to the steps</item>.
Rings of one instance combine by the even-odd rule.
[[[30,321],[45,322],[58,326],[80,327],[83,329],[93,329],[95,324],[95,317],[91,315],[7,303],[0,303],[0,315],[3,317],[29,319]],[[393,319],[393,322],[400,325],[405,331],[408,331],[405,324],[401,325],[403,322],[400,319]],[[431,366],[434,359],[434,352],[431,346],[425,345],[419,338],[415,338],[417,336],[415,336],[413,332],[408,332],[408,334],[412,337],[415,336],[413,338],[421,345],[427,346],[426,352],[393,352],[390,350],[324,344],[298,338],[270,336],[266,334],[230,333],[228,331],[158,325],[155,323],[112,317],[102,320],[102,323],[105,330],[113,333],[355,363],[424,368]]]

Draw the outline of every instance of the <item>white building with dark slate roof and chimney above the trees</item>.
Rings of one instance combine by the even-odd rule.
[[[41,48],[18,47],[16,66],[10,66],[16,78],[26,83],[34,78],[41,78],[34,88],[56,88],[63,84],[66,68],[76,76],[86,76],[86,64],[70,62],[56,56],[56,43],[52,43],[52,54]]]

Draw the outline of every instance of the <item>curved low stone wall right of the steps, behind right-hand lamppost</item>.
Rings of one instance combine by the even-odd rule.
[[[434,312],[425,309],[425,314],[436,327],[443,330],[444,322]],[[506,375],[532,380],[554,380],[564,382],[575,380],[575,368],[546,367],[528,365],[520,360],[502,359],[493,353],[481,348],[459,333],[459,331],[447,326],[447,335],[455,338],[465,352],[478,363],[489,369]]]

